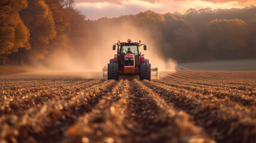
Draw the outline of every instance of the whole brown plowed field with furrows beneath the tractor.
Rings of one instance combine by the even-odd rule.
[[[21,73],[0,94],[0,142],[256,142],[256,71]]]

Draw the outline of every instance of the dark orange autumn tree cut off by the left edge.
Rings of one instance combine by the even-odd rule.
[[[8,1],[0,5],[0,55],[1,64],[5,58],[18,48],[30,49],[29,30],[20,18],[19,11],[27,7],[27,1]]]

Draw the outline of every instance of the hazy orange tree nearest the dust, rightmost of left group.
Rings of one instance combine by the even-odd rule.
[[[85,15],[73,7],[73,0],[46,0],[46,4],[54,17],[56,36],[49,41],[49,59],[45,63],[51,64],[53,57],[60,61],[63,55],[73,59],[84,57],[91,38]]]

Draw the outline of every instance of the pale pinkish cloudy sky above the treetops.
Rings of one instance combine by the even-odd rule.
[[[256,5],[256,0],[76,0],[76,8],[90,20],[138,14],[147,10],[161,14],[174,11],[183,14],[189,8],[200,10],[210,7],[215,10],[243,8],[249,5]]]

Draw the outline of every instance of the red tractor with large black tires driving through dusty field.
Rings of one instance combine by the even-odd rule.
[[[119,80],[119,75],[139,75],[140,80],[151,80],[151,74],[158,77],[158,68],[151,69],[149,59],[144,58],[144,54],[140,52],[140,46],[144,45],[144,50],[147,50],[147,46],[141,41],[132,42],[128,39],[127,42],[114,43],[113,50],[116,50],[118,46],[117,54],[114,58],[110,59],[107,67],[103,68],[103,79]]]

